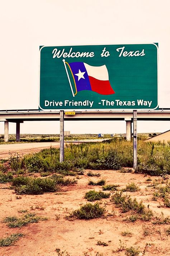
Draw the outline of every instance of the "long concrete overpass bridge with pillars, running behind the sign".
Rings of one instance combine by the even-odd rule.
[[[4,122],[4,141],[9,139],[9,122],[16,123],[16,141],[20,141],[20,123],[24,121],[59,121],[60,111],[30,110],[2,110],[0,122]],[[110,110],[110,111],[76,111],[75,115],[64,114],[66,121],[89,121],[89,120],[124,120],[126,121],[126,139],[131,139],[133,110]],[[140,121],[170,121],[170,109],[137,110],[137,120]]]

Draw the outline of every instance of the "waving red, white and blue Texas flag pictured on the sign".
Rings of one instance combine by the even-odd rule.
[[[105,65],[96,67],[84,62],[65,63],[69,66],[74,80],[76,90],[74,95],[83,90],[95,91],[102,95],[115,93],[110,85],[109,74]]]

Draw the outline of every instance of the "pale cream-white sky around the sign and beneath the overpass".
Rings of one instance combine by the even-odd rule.
[[[0,109],[36,109],[39,45],[159,43],[159,106],[170,108],[169,0],[6,0],[0,8]],[[170,122],[138,122],[138,132]],[[125,133],[120,121],[65,122],[72,133]],[[0,133],[4,123],[0,122]],[[15,133],[15,124],[9,124]],[[59,122],[25,122],[21,133],[59,133]]]

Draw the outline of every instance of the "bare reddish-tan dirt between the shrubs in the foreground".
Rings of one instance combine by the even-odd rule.
[[[100,202],[101,206],[106,207],[106,215],[110,214],[111,216],[93,220],[70,221],[65,219],[69,212],[87,202],[84,198],[86,192],[93,189],[101,190],[101,186],[88,185],[89,179],[96,181],[101,178],[106,179],[106,184],[120,185],[120,189],[126,187],[128,183],[134,182],[140,186],[141,190],[124,192],[125,194],[136,197],[138,202],[142,199],[146,207],[149,205],[155,216],[160,216],[163,212],[166,217],[170,213],[169,208],[157,207],[161,199],[159,201],[151,200],[154,189],[147,185],[155,178],[159,178],[151,177],[152,181],[146,181],[149,176],[111,170],[93,171],[94,173],[100,172],[101,176],[91,178],[86,175],[88,171],[85,171],[85,175],[79,176],[76,185],[63,187],[61,192],[23,195],[20,199],[17,199],[14,190],[8,189],[10,184],[0,184],[0,237],[13,233],[25,234],[16,242],[15,246],[0,248],[0,255],[123,256],[126,255],[126,251],[120,249],[121,243],[124,247],[139,247],[141,251],[139,256],[170,255],[169,236],[165,233],[170,225],[154,225],[152,221],[141,220],[134,223],[124,221],[129,213],[122,214],[121,210],[110,202],[110,198],[102,199]],[[2,222],[4,217],[22,215],[18,212],[21,210],[46,216],[48,220],[29,224],[22,228],[8,228]],[[150,234],[144,236],[143,231],[146,227],[149,228]],[[132,233],[132,237],[121,234],[127,230]],[[108,243],[108,246],[96,245],[98,241]],[[58,254],[56,248],[63,253]]]

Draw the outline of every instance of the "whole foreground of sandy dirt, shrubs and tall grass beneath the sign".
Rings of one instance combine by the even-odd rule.
[[[170,255],[169,144],[132,166],[124,138],[1,158],[0,255]]]

